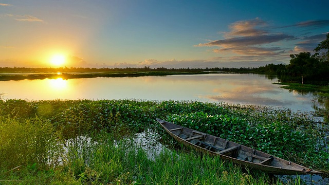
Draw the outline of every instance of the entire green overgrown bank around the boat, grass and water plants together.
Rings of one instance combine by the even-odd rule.
[[[271,180],[262,172],[243,171],[229,162],[187,150],[160,128],[156,117],[193,124],[200,131],[314,170],[329,171],[328,125],[288,110],[137,100],[1,100],[0,107],[0,179],[7,183],[264,184]],[[218,124],[226,126],[219,129]],[[147,137],[171,152],[163,150],[150,159],[140,145],[122,140],[134,140],[136,133],[148,130],[157,136]],[[82,136],[90,139],[81,142],[78,138]],[[67,145],[68,140],[80,144]]]

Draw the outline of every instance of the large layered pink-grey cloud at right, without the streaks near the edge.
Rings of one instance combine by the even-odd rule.
[[[295,40],[295,36],[274,33],[267,30],[268,24],[260,18],[238,21],[229,25],[230,32],[224,32],[224,39],[200,43],[198,47],[213,47],[215,53],[235,53],[253,56],[279,56],[286,53],[281,47],[269,46],[272,43]]]

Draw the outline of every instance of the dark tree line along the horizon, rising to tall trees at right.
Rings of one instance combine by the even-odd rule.
[[[322,83],[329,81],[329,33],[326,39],[314,49],[315,53],[300,52],[290,54],[289,64],[267,64],[260,67],[214,67],[214,68],[151,68],[126,67],[126,68],[82,68],[82,67],[59,67],[59,68],[26,68],[26,67],[0,67],[0,72],[145,72],[145,71],[172,71],[172,72],[239,72],[239,73],[263,73],[277,75],[283,82]]]

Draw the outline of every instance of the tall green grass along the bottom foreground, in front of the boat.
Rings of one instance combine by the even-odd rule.
[[[199,153],[163,150],[154,159],[135,144],[111,134],[94,136],[95,144],[68,147],[67,159],[54,169],[24,165],[0,172],[4,184],[268,184],[262,172],[243,171],[231,162]],[[295,181],[291,181],[295,183]],[[275,184],[282,184],[281,181]],[[299,184],[299,183],[298,183]]]

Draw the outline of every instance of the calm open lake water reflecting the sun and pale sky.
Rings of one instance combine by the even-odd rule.
[[[140,99],[270,105],[312,111],[314,96],[289,92],[265,75],[209,74],[165,77],[0,81],[5,99]]]

